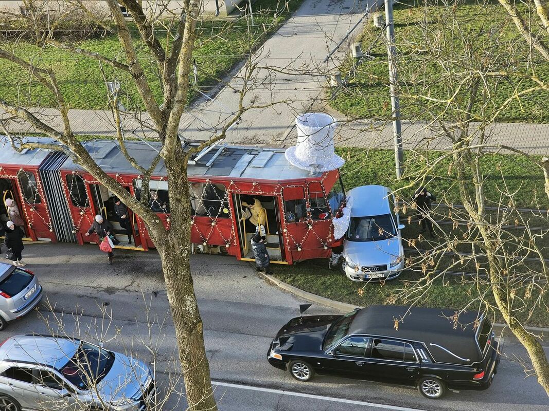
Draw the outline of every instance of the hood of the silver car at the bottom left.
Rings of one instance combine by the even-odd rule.
[[[150,369],[142,361],[114,352],[109,373],[99,383],[98,391],[105,402],[138,399],[152,382]]]

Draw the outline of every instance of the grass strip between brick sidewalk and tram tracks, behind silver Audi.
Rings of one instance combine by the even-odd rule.
[[[385,185],[397,190],[411,184],[406,175],[425,169],[428,165],[417,154],[405,151],[406,175],[405,178],[396,180],[392,150],[337,147],[336,151],[346,160],[341,169],[346,190],[368,184]],[[441,152],[429,152],[429,164],[441,155]],[[452,169],[450,175],[448,173],[450,162],[450,159],[444,159],[429,170],[425,181],[428,181],[428,189],[436,195],[438,201],[461,204],[455,170]],[[481,158],[481,169],[485,176],[484,190],[488,200],[486,205],[500,204],[500,191],[505,189],[505,181],[507,189],[514,193],[514,207],[549,209],[549,199],[544,193],[543,173],[538,167],[533,166],[529,159],[518,155],[486,154]],[[472,190],[472,185],[469,186]],[[414,190],[415,187],[403,191],[401,197],[409,200]],[[503,206],[507,206],[508,202],[509,198],[504,198]]]

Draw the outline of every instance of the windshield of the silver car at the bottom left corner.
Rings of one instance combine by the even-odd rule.
[[[79,389],[88,390],[109,373],[113,362],[114,353],[92,344],[82,343],[60,372]]]

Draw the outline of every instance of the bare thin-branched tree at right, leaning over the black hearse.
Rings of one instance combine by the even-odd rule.
[[[491,136],[491,125],[501,121],[502,112],[511,102],[546,91],[547,87],[536,76],[535,59],[529,60],[530,72],[516,69],[517,61],[529,58],[529,47],[524,47],[521,38],[503,36],[498,24],[505,25],[507,21],[495,25],[494,10],[476,15],[475,23],[480,29],[470,29],[458,18],[460,4],[429,7],[436,4],[425,5],[419,17],[417,13],[422,9],[414,10],[416,18],[410,24],[418,30],[410,30],[409,37],[397,40],[399,91],[406,101],[402,113],[406,116],[407,111],[413,110],[414,116],[424,119],[426,125],[420,136],[414,136],[416,145],[407,155],[408,184],[396,192],[405,204],[401,211],[406,212],[413,207],[407,194],[411,187],[433,185],[442,178],[449,189],[440,193],[441,202],[448,205],[436,208],[430,215],[440,239],[421,234],[408,239],[411,250],[407,268],[421,277],[406,282],[389,302],[421,301],[436,281],[448,281],[464,272],[461,281],[470,302],[456,311],[453,320],[458,322],[459,313],[464,310],[502,319],[528,352],[533,368],[529,372],[536,375],[549,394],[549,363],[540,335],[525,327],[534,311],[545,312],[548,307],[544,236],[549,229],[547,217],[539,207],[544,198],[531,193],[533,209],[528,214],[520,212],[517,190],[509,186],[505,175],[483,167],[483,161],[494,153],[524,156],[539,170],[540,180],[545,178],[549,194],[547,158],[539,159],[515,147],[497,144]],[[430,77],[433,70],[436,79]],[[522,87],[525,79],[534,85]],[[513,90],[505,98],[497,93],[503,83],[511,84]],[[442,151],[433,152],[433,148]],[[444,169],[447,172],[442,176]],[[489,177],[498,180],[495,193],[488,193]],[[456,197],[449,198],[450,191],[457,193],[462,207],[452,207]],[[412,219],[410,215],[408,221]]]

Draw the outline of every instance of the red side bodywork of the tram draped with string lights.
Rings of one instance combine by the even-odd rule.
[[[63,171],[58,170],[58,172],[65,197],[64,200],[70,210],[68,213],[70,222],[67,222],[68,224],[72,224],[72,227],[68,228],[75,235],[81,235],[81,230],[87,230],[94,222],[95,213],[92,212],[94,206],[91,201],[92,197],[90,197],[94,196],[94,188],[90,187],[90,185],[100,183],[86,172],[80,173],[76,170],[67,172],[66,169]],[[141,195],[148,196],[149,207],[158,215],[156,221],[159,223],[162,222],[166,230],[171,229],[167,179],[165,176],[158,176],[150,180],[153,189],[149,187],[147,193],[142,193],[140,186],[136,182],[136,180],[141,179],[140,175],[137,178],[135,174],[121,174],[120,172],[116,174],[113,172],[110,175],[119,184],[129,186],[130,192],[136,198],[139,199]],[[191,203],[194,203],[192,208],[195,210],[190,221],[192,242],[202,244],[203,246],[210,244],[211,246],[225,247],[228,251],[229,248],[236,247],[239,241],[248,241],[247,237],[239,239],[237,230],[239,230],[238,224],[240,222],[234,221],[238,213],[234,213],[233,208],[241,207],[241,204],[234,203],[232,194],[235,193],[251,197],[271,197],[268,201],[276,203],[275,212],[278,211],[279,214],[275,216],[275,219],[278,226],[276,230],[272,229],[270,231],[280,232],[280,249],[282,252],[285,252],[288,261],[291,262],[293,259],[298,258],[308,258],[309,255],[327,256],[333,242],[338,239],[337,235],[339,231],[337,231],[338,218],[335,218],[338,210],[330,209],[327,199],[328,193],[325,189],[334,185],[337,175],[337,170],[322,173],[316,172],[316,174],[302,176],[299,180],[293,180],[290,184],[284,184],[284,181],[278,182],[276,179],[257,181],[250,181],[249,179],[230,180],[223,176],[208,176],[208,179],[205,181],[191,180],[189,181],[189,190],[191,190]],[[193,178],[193,176],[191,177]],[[194,176],[194,178],[200,177]],[[315,190],[311,190],[313,193],[310,193],[309,186],[313,183],[320,185],[320,187],[315,187]],[[23,192],[20,181],[17,184],[20,192]],[[192,185],[194,185],[194,189],[192,189]],[[306,210],[305,216],[301,221],[290,222],[287,220],[290,210],[287,209],[287,204],[284,201],[283,190],[295,187],[304,190],[303,204]],[[40,193],[42,198],[46,198],[40,180],[37,180],[35,189],[35,202],[37,201],[38,193]],[[48,187],[45,187],[45,189],[47,190]],[[316,196],[314,193],[317,193]],[[203,210],[199,210],[199,207],[202,207]],[[38,213],[36,207],[28,208],[26,206],[24,211],[30,224],[33,224],[33,222],[40,218],[43,221],[49,222],[47,226],[51,229],[52,224],[48,209],[47,207],[43,208],[46,209],[45,213]],[[320,209],[321,212],[319,212]],[[101,211],[99,210],[98,212],[100,213]],[[272,209],[268,210],[271,221],[273,221],[272,212]],[[38,215],[38,218],[36,215]],[[143,220],[139,219],[137,215],[135,217],[132,224],[134,227],[137,225],[136,236],[142,236],[141,242],[144,247],[147,247],[147,228]],[[223,252],[222,248],[221,252]],[[232,249],[231,253],[236,253],[236,249]],[[304,254],[296,256],[295,253]]]

